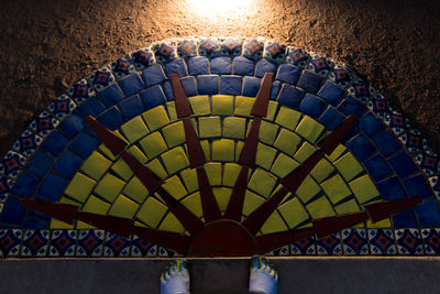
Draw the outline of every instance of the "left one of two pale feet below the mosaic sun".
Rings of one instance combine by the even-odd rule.
[[[173,261],[161,275],[161,294],[189,294],[188,263]]]

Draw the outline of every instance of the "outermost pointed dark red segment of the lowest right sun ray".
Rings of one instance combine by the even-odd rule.
[[[388,218],[395,214],[402,213],[421,203],[422,198],[417,196],[417,197],[371,204],[365,206],[365,208],[369,211],[372,222],[377,222],[380,220]]]

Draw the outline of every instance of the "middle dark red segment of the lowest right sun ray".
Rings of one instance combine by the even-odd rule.
[[[312,221],[316,235],[319,238],[350,228],[369,219],[366,211],[348,214],[338,217],[328,217]]]

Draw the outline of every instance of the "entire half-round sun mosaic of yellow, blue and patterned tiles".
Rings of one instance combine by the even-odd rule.
[[[261,39],[165,40],[19,137],[0,164],[0,254],[438,254],[438,173],[343,64]]]

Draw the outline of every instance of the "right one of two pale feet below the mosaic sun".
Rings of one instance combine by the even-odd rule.
[[[249,292],[257,294],[278,293],[278,272],[264,257],[253,257]]]

